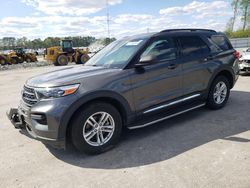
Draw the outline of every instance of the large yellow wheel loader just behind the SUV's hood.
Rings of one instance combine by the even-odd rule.
[[[47,48],[44,59],[52,62],[55,66],[63,66],[68,63],[84,64],[89,60],[88,50],[73,49],[73,42],[70,39],[61,41],[61,46]]]

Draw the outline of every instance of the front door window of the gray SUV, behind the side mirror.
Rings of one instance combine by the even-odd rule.
[[[141,57],[149,55],[154,56],[158,62],[170,61],[176,59],[177,48],[171,39],[160,38],[149,45]]]

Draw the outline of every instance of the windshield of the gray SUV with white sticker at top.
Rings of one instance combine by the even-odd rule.
[[[115,41],[94,55],[85,66],[122,69],[145,42],[146,38]]]

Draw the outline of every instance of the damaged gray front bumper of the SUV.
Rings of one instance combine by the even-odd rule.
[[[32,107],[20,102],[18,108],[11,108],[7,116],[13,126],[23,129],[34,139],[55,148],[64,148],[66,136],[59,135],[62,117],[71,100],[64,104],[60,99],[40,101]],[[63,105],[62,105],[63,104]]]

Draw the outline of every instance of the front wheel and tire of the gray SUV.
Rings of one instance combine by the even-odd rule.
[[[103,125],[99,125],[101,117],[106,117]],[[107,127],[107,124],[110,126]],[[121,132],[122,119],[118,110],[108,103],[95,102],[74,116],[70,135],[73,145],[80,152],[100,154],[119,142]]]

